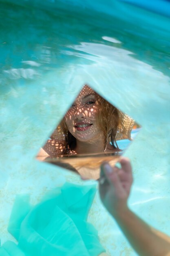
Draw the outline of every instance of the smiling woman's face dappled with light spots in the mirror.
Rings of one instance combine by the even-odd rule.
[[[69,132],[79,141],[96,139],[101,130],[97,125],[97,99],[95,92],[87,85],[83,87],[64,121]]]

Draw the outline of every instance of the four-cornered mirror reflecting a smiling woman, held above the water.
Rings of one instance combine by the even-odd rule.
[[[84,85],[37,159],[99,179],[100,165],[115,165],[140,130],[131,117]]]

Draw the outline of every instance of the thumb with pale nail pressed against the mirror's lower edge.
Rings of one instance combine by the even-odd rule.
[[[117,174],[117,171],[119,169],[117,167],[111,167],[108,163],[104,163],[102,165],[102,169],[104,171],[108,183],[113,188],[115,195],[117,195],[117,197],[121,197],[122,195],[124,195],[124,188]]]

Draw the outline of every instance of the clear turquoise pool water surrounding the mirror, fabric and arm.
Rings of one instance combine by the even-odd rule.
[[[142,126],[126,151],[130,208],[170,235],[170,20],[118,1],[0,2],[0,240],[16,195],[31,204],[73,173],[35,155],[84,83]],[[88,214],[108,255],[135,252],[99,201]]]

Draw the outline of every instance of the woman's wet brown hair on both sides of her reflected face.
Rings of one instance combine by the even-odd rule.
[[[97,105],[97,124],[104,135],[104,149],[106,148],[107,143],[111,142],[113,148],[119,150],[116,142],[116,135],[119,125],[121,124],[121,111],[111,105],[96,92],[95,95]],[[65,150],[74,150],[76,147],[76,138],[71,134],[71,132],[69,132],[64,118],[60,122],[60,127],[64,133],[66,141]],[[67,152],[65,152],[65,154],[67,154]]]

